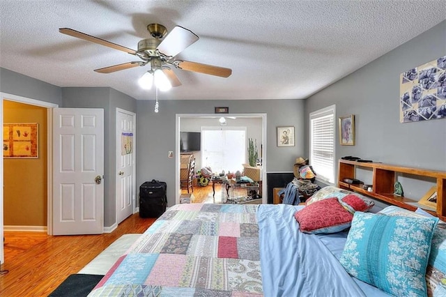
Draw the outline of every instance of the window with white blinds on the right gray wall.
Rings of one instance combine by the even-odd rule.
[[[334,114],[331,105],[309,114],[309,160],[318,178],[334,183]]]

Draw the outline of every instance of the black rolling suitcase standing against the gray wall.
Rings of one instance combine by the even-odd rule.
[[[139,216],[158,218],[166,211],[167,184],[164,181],[146,181],[139,187]]]

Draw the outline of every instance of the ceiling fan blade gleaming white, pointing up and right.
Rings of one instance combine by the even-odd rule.
[[[176,56],[197,40],[199,40],[199,37],[194,32],[182,26],[176,26],[164,37],[164,40],[158,45],[157,50],[166,56]]]

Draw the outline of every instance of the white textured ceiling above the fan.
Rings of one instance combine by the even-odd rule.
[[[152,100],[142,67],[93,69],[134,56],[59,33],[68,27],[137,49],[147,24],[179,25],[199,40],[179,59],[231,68],[228,78],[175,69],[162,99],[307,98],[446,19],[445,1],[5,1],[0,67],[56,86],[109,86]]]

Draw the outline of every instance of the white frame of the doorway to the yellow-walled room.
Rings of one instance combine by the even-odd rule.
[[[13,95],[10,93],[0,92],[0,125],[3,127],[3,100],[20,102],[28,105],[36,105],[47,108],[47,123],[52,123],[52,109],[59,105]],[[52,126],[47,125],[47,234],[52,235]],[[0,238],[3,238],[3,150],[1,150],[0,158]],[[4,261],[3,245],[0,245],[0,261]]]

